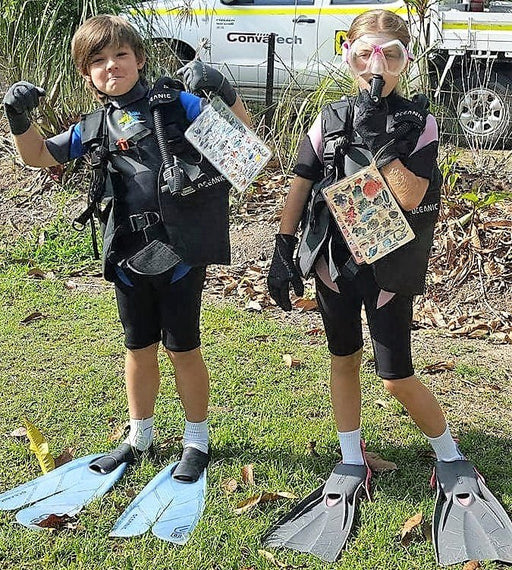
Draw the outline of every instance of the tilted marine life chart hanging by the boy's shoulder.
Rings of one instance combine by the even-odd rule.
[[[219,97],[204,108],[185,137],[238,190],[245,190],[272,156]]]

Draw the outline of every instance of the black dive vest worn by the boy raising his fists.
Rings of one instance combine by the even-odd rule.
[[[152,240],[190,266],[229,264],[229,188],[219,172],[184,137],[185,110],[176,97],[162,104],[173,154],[186,167],[185,196],[161,191],[162,158],[147,97],[124,108],[107,104],[82,116],[82,144],[108,148],[108,176],[96,213],[103,233],[103,272],[137,255]],[[133,120],[133,117],[137,120]]]

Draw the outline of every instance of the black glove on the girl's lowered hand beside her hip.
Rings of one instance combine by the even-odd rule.
[[[290,283],[295,294],[304,295],[304,284],[293,261],[293,251],[297,238],[287,234],[276,235],[276,245],[272,263],[268,270],[267,287],[270,296],[284,311],[291,311]]]

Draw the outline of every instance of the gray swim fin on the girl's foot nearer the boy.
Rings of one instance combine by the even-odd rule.
[[[266,546],[309,552],[334,562],[347,541],[371,471],[366,465],[338,463],[327,481],[284,516],[266,535]]]

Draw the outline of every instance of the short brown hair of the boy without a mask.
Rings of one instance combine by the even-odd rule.
[[[71,55],[78,71],[89,75],[94,55],[105,47],[128,45],[138,61],[145,59],[144,44],[135,28],[120,16],[102,14],[86,20],[71,41]]]

